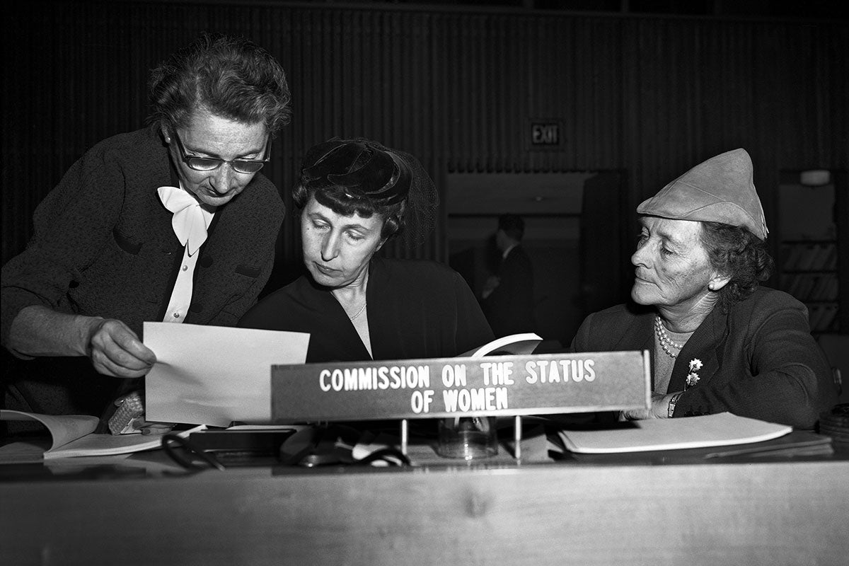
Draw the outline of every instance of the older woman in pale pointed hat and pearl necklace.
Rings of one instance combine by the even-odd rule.
[[[651,352],[651,408],[621,417],[727,411],[812,428],[836,392],[805,306],[759,285],[773,260],[745,149],[696,165],[637,212],[634,304],[590,315],[571,345]]]

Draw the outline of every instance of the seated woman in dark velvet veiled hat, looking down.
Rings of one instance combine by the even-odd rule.
[[[310,149],[293,193],[304,275],[239,326],[310,333],[307,362],[458,356],[492,340],[463,277],[435,261],[376,255],[433,227],[433,182],[412,155],[363,138]]]

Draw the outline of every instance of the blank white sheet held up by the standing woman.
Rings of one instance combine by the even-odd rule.
[[[156,363],[144,380],[145,418],[226,427],[271,422],[271,367],[306,361],[301,332],[144,322]]]

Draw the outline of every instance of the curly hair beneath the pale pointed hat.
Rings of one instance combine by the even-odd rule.
[[[766,281],[775,267],[767,243],[748,228],[722,222],[701,222],[700,241],[711,266],[731,279],[720,291],[723,311],[744,300]]]

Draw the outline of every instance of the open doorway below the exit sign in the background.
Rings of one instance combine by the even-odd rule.
[[[588,312],[627,298],[620,172],[462,173],[447,181],[449,263],[478,298],[494,269],[490,239],[504,213],[525,221],[543,339],[568,346]]]

